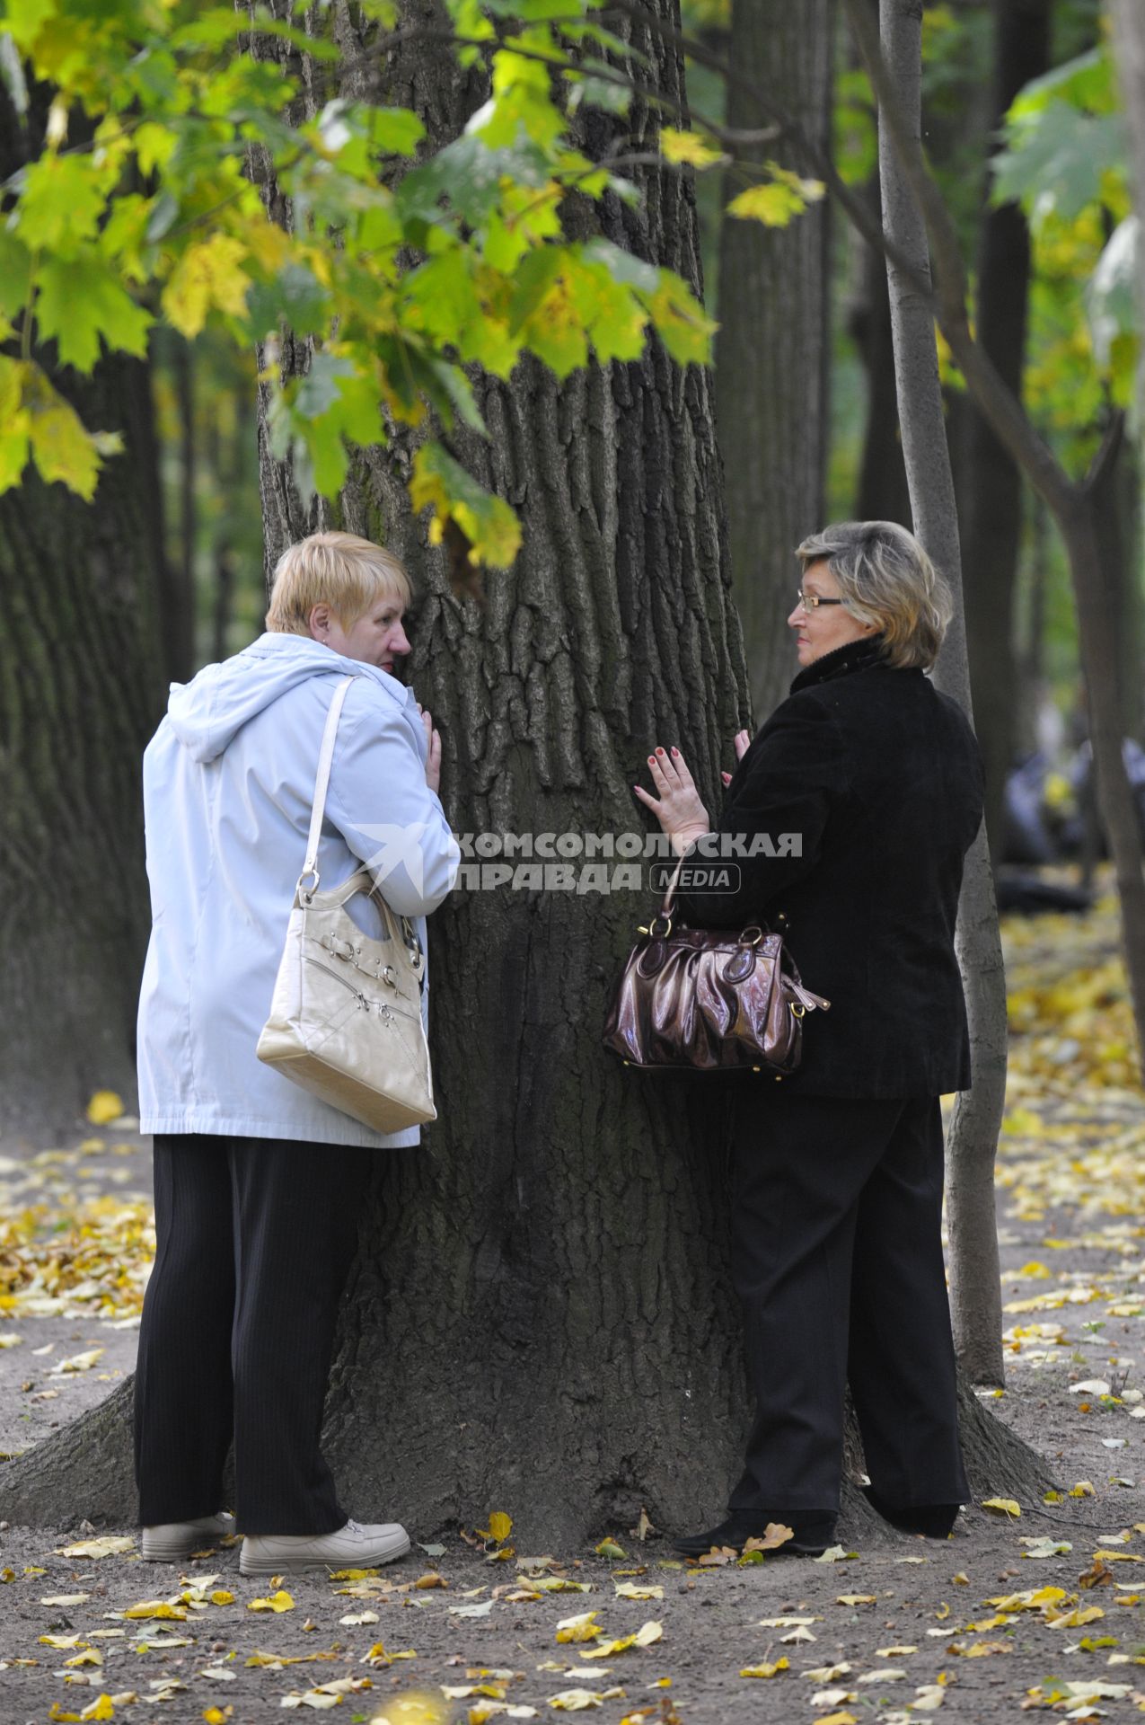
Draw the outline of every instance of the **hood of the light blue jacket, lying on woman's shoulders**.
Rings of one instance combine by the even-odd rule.
[[[260,635],[231,659],[203,666],[190,683],[172,683],[167,718],[193,761],[216,761],[243,724],[312,676],[366,676],[404,707],[409,700],[409,690],[378,666],[303,635]]]

